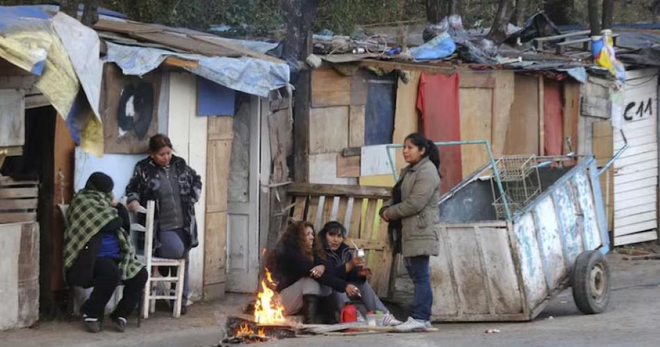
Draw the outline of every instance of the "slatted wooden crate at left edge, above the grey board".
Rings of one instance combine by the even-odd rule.
[[[0,224],[37,220],[38,181],[15,181],[0,176]]]

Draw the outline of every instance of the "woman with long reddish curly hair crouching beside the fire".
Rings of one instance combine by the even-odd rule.
[[[314,226],[308,222],[291,223],[269,257],[269,267],[277,283],[284,314],[300,312],[304,323],[318,323],[318,302],[332,290],[359,296],[359,289],[326,271],[325,253],[320,249]]]

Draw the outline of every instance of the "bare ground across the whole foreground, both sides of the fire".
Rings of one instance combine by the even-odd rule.
[[[660,341],[660,260],[624,260],[610,254],[612,297],[607,312],[581,314],[570,290],[561,293],[528,323],[435,324],[438,332],[305,337],[261,346],[658,346]],[[237,315],[249,296],[230,294],[219,302],[195,303],[180,319],[167,312],[124,334],[110,328],[85,332],[79,321],[42,322],[33,328],[0,332],[0,346],[217,346],[226,316]],[[399,317],[405,318],[405,317]],[[488,329],[499,333],[486,334]]]

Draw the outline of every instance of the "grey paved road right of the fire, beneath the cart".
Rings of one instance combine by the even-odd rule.
[[[613,293],[603,314],[581,314],[568,290],[529,323],[436,324],[440,331],[433,333],[286,339],[263,346],[660,346],[660,261],[609,258]],[[486,334],[488,329],[500,333]]]

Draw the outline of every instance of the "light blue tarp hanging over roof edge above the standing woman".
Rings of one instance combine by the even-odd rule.
[[[112,42],[107,42],[107,44],[108,53],[105,60],[119,65],[126,75],[142,76],[156,69],[168,56],[176,56],[199,63],[199,67],[185,70],[221,86],[252,95],[267,97],[271,90],[287,86],[289,82],[289,67],[286,63],[272,63],[247,57],[227,58],[181,54],[165,49],[124,46]]]

